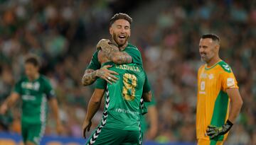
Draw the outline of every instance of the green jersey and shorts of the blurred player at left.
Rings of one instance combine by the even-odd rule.
[[[50,81],[43,75],[29,81],[26,76],[14,86],[14,92],[21,96],[21,135],[23,141],[39,144],[46,129],[47,100],[55,97]]]

